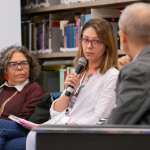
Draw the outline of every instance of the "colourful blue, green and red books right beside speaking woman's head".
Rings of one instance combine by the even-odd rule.
[[[60,21],[60,52],[78,51],[80,32],[85,22],[91,19],[91,14],[76,16],[76,20]]]

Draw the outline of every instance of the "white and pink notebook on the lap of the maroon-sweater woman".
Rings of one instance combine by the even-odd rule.
[[[29,129],[29,130],[37,127],[37,124],[35,124],[31,121],[27,121],[25,119],[16,117],[14,115],[10,115],[10,116],[8,116],[8,118],[11,119],[12,121],[22,125],[24,128]]]

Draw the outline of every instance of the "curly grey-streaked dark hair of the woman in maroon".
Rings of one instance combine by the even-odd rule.
[[[3,49],[0,53],[0,85],[5,82],[5,74],[7,69],[7,64],[11,59],[11,56],[14,52],[20,52],[25,55],[30,65],[30,76],[29,80],[34,82],[36,78],[39,76],[41,71],[41,66],[37,58],[29,53],[29,50],[24,46],[10,46],[6,49]]]

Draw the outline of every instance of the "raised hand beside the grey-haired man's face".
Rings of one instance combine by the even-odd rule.
[[[123,56],[123,57],[120,57],[120,58],[118,59],[118,67],[119,67],[119,70],[120,70],[123,66],[127,65],[127,64],[128,64],[129,62],[131,62],[131,61],[132,61],[132,58],[129,57],[128,55]]]

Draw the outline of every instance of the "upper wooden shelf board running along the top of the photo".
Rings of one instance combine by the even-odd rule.
[[[112,7],[112,6],[121,6],[128,5],[133,2],[142,2],[144,0],[99,0],[85,3],[76,3],[76,4],[68,4],[68,5],[55,5],[49,7],[41,7],[35,9],[27,9],[22,10],[21,15],[39,15],[43,13],[51,13],[51,12],[65,12],[68,10],[78,10],[82,8],[95,8],[95,7]]]

